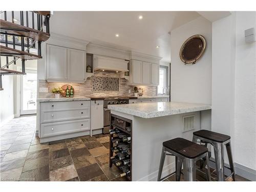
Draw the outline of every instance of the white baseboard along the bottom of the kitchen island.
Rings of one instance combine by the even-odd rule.
[[[161,178],[163,178],[166,175],[169,175],[169,174],[171,174],[173,172],[175,172],[175,162],[174,163],[170,163],[170,164],[168,164],[168,165],[163,167]],[[155,172],[151,173],[150,175],[142,177],[138,181],[157,181],[157,177],[158,177],[158,170],[156,170]]]

